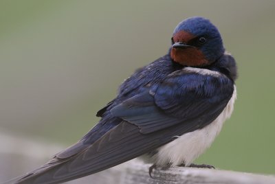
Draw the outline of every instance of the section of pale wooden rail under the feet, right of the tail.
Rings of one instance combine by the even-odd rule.
[[[118,165],[109,170],[88,176],[85,181],[98,184],[271,184],[275,183],[275,176],[233,172],[225,170],[210,170],[199,168],[157,168],[150,178],[148,168],[137,159]],[[88,179],[89,178],[89,179]],[[80,181],[80,180],[79,180]]]

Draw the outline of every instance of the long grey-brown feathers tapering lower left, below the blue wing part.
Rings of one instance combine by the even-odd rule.
[[[170,130],[165,131],[170,134]],[[162,131],[150,136],[143,135],[137,126],[123,122],[82,152],[67,159],[56,157],[56,160],[15,183],[55,184],[94,174],[162,146],[160,143],[165,143],[163,136]]]

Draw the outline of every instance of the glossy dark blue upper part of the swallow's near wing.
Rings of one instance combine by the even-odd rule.
[[[234,83],[222,74],[200,74],[182,69],[115,106],[111,113],[139,126],[144,134],[187,122],[186,128],[194,130],[216,119],[233,91]]]

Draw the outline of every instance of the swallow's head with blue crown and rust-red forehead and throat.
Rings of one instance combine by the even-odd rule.
[[[222,56],[224,51],[219,30],[203,17],[186,19],[173,32],[170,57],[181,65],[207,66]]]

